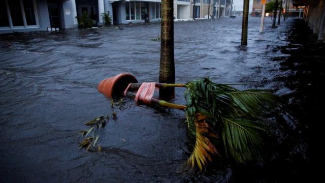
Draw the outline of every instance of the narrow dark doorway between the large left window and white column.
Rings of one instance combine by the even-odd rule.
[[[58,1],[48,0],[47,6],[49,9],[51,27],[60,28],[61,27],[61,21],[60,21],[61,17],[60,17]]]

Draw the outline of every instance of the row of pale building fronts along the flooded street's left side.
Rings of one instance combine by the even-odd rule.
[[[225,0],[174,0],[174,19],[225,15]],[[219,6],[220,5],[220,6]],[[78,27],[87,13],[94,26],[110,13],[112,23],[154,22],[161,19],[161,0],[1,0],[0,34]]]

